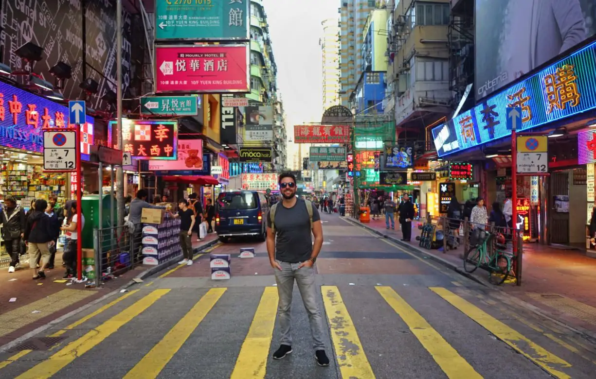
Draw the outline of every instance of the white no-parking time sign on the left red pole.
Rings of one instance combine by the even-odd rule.
[[[76,130],[44,131],[44,170],[76,170]]]

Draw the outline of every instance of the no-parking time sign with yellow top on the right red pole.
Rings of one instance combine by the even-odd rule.
[[[548,137],[517,136],[517,173],[548,173]]]

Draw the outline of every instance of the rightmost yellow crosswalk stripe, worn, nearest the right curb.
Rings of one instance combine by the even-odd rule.
[[[507,343],[517,352],[526,356],[536,365],[544,368],[549,374],[557,378],[570,378],[569,375],[560,371],[561,368],[571,367],[571,364],[548,352],[544,347],[533,343],[513,328],[487,314],[482,309],[471,304],[462,297],[442,287],[429,287],[434,293],[445,299],[463,314],[476,321],[483,328],[490,331],[495,337]]]

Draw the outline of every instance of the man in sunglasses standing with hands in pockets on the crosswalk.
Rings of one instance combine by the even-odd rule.
[[[292,352],[291,303],[294,280],[300,290],[302,302],[308,312],[316,362],[329,365],[323,342],[323,319],[316,297],[313,265],[323,245],[321,216],[310,201],[296,197],[296,177],[291,173],[280,175],[283,199],[271,207],[267,215],[267,252],[280,297],[277,316],[280,320],[281,346],[273,353],[282,359]],[[277,233],[277,243],[275,235]],[[311,233],[315,236],[314,245]]]

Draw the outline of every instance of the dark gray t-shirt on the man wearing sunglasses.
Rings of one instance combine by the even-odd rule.
[[[312,205],[312,203],[311,203]],[[267,226],[271,227],[271,212],[267,214]],[[321,220],[319,212],[312,205],[312,222]],[[275,259],[283,262],[298,263],[311,258],[312,233],[306,203],[297,199],[291,208],[278,203],[275,210]]]

